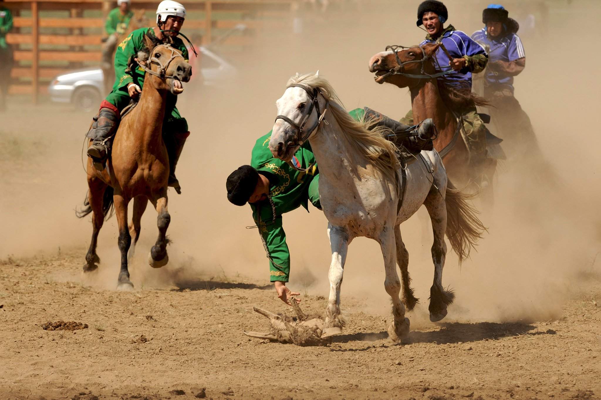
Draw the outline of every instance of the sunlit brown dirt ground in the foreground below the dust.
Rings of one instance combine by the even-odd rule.
[[[267,328],[252,305],[286,311],[262,282],[174,271],[172,287],[117,293],[87,285],[83,256],[0,265],[0,398],[193,398],[203,387],[207,398],[277,400],[601,398],[599,276],[558,320],[432,324],[402,345],[380,315],[358,311],[368,299],[346,297],[344,335],[296,347],[242,334]],[[89,327],[41,327],[58,320]]]

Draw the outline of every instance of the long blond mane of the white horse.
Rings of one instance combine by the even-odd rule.
[[[389,132],[387,128],[376,127],[370,131],[367,129],[372,123],[369,119],[355,121],[344,108],[332,85],[319,74],[296,74],[288,80],[286,86],[296,84],[307,86],[309,89],[319,88],[323,97],[329,101],[328,110],[349,137],[349,143],[374,167],[384,173],[394,172],[398,168],[395,153],[397,147],[383,136]]]

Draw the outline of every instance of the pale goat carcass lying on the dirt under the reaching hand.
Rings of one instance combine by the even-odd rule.
[[[287,317],[284,314],[274,314],[261,308],[253,307],[253,309],[261,315],[269,318],[271,325],[270,332],[244,332],[246,336],[251,338],[276,340],[281,343],[294,343],[297,345],[314,345],[322,344],[324,339],[329,335],[323,335],[323,318],[321,315],[311,314],[305,315],[299,305],[290,298],[290,303],[296,317]]]

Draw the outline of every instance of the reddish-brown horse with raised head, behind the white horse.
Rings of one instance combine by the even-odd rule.
[[[392,83],[399,88],[409,88],[413,121],[432,118],[438,128],[434,148],[441,154],[448,175],[460,187],[468,185],[473,176],[469,170],[469,151],[462,140],[457,121],[459,110],[469,106],[486,104],[475,94],[463,94],[446,85],[436,77],[433,60],[440,44],[424,44],[404,50],[377,53],[370,59],[370,72],[376,73],[377,83]],[[398,60],[397,60],[398,56]],[[401,65],[399,65],[399,62]],[[433,77],[431,77],[433,76]],[[492,203],[492,176],[496,160],[489,158],[484,166],[484,175],[489,185],[483,191],[487,202]]]

